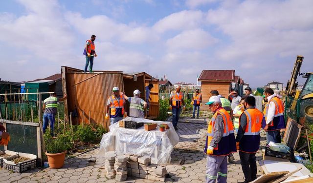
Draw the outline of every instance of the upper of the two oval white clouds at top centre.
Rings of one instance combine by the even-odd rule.
[[[203,21],[204,14],[201,11],[180,11],[173,13],[153,26],[156,32],[163,33],[169,30],[188,30],[198,28]]]

